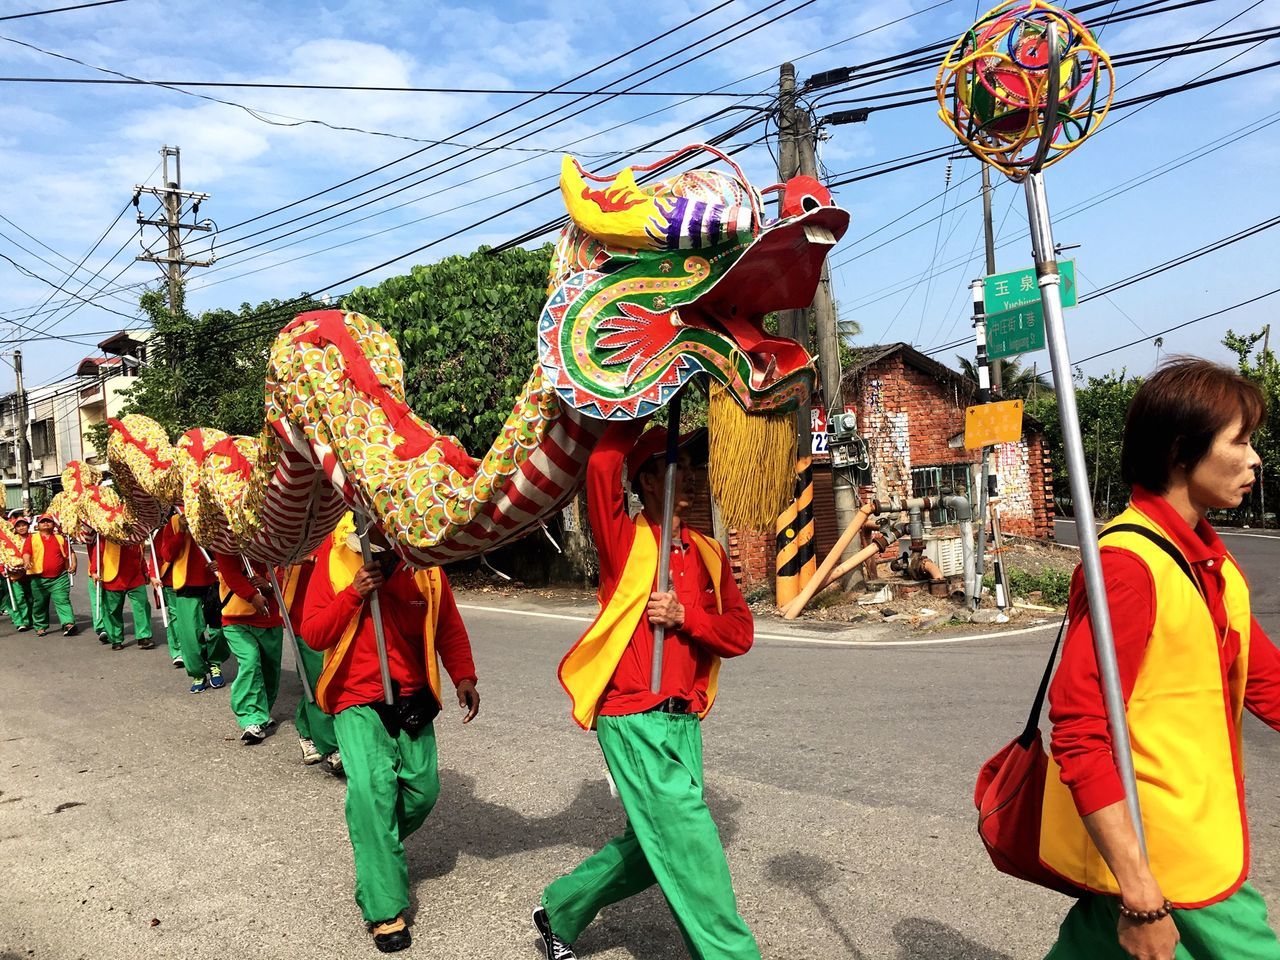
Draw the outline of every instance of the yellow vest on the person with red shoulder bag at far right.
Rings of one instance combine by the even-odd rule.
[[[1108,526],[1119,524],[1148,527],[1172,543],[1132,506]],[[1240,653],[1224,689],[1222,637],[1197,586],[1140,534],[1116,532],[1106,544],[1135,554],[1156,585],[1155,625],[1126,710],[1152,873],[1175,906],[1217,902],[1239,888],[1249,865],[1243,769],[1236,767],[1249,672],[1249,588],[1228,557],[1224,602]],[[1087,890],[1120,892],[1052,763],[1039,852],[1046,867]]]

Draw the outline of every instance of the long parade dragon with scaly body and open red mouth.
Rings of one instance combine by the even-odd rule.
[[[786,410],[805,394],[812,358],[760,321],[813,300],[849,219],[826,189],[792,180],[783,219],[765,227],[740,172],[645,188],[625,172],[591,191],[576,163],[564,169],[573,223],[550,269],[539,362],[484,457],[410,410],[399,348],[378,323],[314,311],[271,347],[260,436],[197,429],[170,444],[154,421],[122,417],[108,448],[119,493],[72,465],[68,512],[136,540],[177,506],[206,549],[288,562],[356,509],[408,562],[430,566],[543,524],[580,488],[604,420],[652,412],[699,370],[746,410]],[[590,356],[567,362],[561,343]]]

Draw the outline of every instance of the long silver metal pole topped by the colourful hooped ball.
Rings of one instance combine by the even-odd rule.
[[[1052,28],[1051,28],[1052,29]],[[1056,31],[1050,35],[1050,51],[1055,63],[1048,76],[1057,76]],[[1050,84],[1052,87],[1052,84]],[[1089,599],[1089,622],[1093,626],[1093,646],[1102,680],[1102,695],[1111,727],[1111,753],[1124,783],[1129,818],[1138,835],[1143,855],[1147,838],[1142,828],[1142,808],[1138,803],[1138,782],[1133,771],[1129,746],[1129,726],[1125,717],[1124,691],[1120,687],[1120,668],[1116,663],[1115,640],[1111,635],[1111,611],[1107,607],[1107,589],[1102,577],[1102,557],[1098,553],[1098,534],[1093,525],[1093,504],[1089,502],[1089,476],[1084,460],[1084,440],[1080,436],[1079,412],[1075,406],[1075,384],[1071,379],[1071,357],[1066,347],[1066,325],[1062,321],[1061,276],[1053,250],[1053,229],[1050,223],[1044,178],[1033,173],[1027,178],[1027,219],[1032,228],[1032,251],[1036,255],[1036,275],[1039,279],[1041,302],[1044,305],[1044,334],[1057,385],[1059,420],[1062,424],[1062,447],[1066,453],[1066,472],[1071,500],[1075,504],[1076,536],[1080,544],[1080,566],[1084,568],[1084,589]]]

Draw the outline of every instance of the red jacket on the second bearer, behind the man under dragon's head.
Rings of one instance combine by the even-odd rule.
[[[316,554],[315,572],[307,585],[306,614],[302,620],[302,639],[315,650],[328,650],[337,645],[358,617],[352,652],[338,668],[332,689],[339,691],[333,713],[347,707],[378,703],[383,699],[381,671],[378,666],[378,643],[369,604],[356,593],[355,585],[337,595],[329,579],[329,549],[326,540]],[[471,659],[471,640],[458,614],[449,581],[440,575],[439,617],[435,628],[435,652],[454,685],[463,680],[475,681],[476,668]],[[422,627],[426,607],[422,594],[413,581],[413,571],[397,564],[387,582],[379,589],[383,613],[383,634],[387,639],[387,660],[392,681],[402,695],[421,690],[428,685],[424,659]]]

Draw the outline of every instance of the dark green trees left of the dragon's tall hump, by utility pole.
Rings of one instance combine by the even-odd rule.
[[[170,439],[195,426],[259,434],[271,342],[294,315],[324,306],[270,300],[193,316],[180,305],[170,312],[157,291],[143,293],[138,302],[152,335],[147,364],[125,392],[120,412],[151,417]],[[106,449],[106,424],[87,435],[100,453]]]

